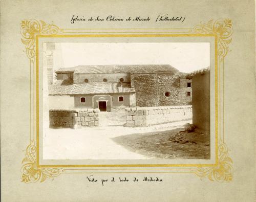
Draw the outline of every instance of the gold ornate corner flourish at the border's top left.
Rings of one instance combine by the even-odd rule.
[[[20,24],[20,33],[22,34],[22,42],[25,44],[28,58],[35,57],[35,37],[39,34],[58,34],[61,32],[56,25],[46,24],[42,20],[23,20]]]

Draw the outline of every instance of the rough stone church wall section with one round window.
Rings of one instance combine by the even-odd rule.
[[[158,73],[159,106],[180,105],[180,79],[179,72]],[[165,93],[170,96],[166,97]]]

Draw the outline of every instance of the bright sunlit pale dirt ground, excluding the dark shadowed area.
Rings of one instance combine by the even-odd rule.
[[[188,121],[166,123],[148,127],[98,126],[81,129],[49,128],[43,138],[43,159],[155,159],[141,154],[126,144],[115,142],[124,137],[127,143],[137,142],[149,133],[159,134],[181,128]],[[189,121],[191,123],[191,121]],[[157,137],[157,136],[156,136]],[[125,139],[125,138],[124,138]],[[119,140],[119,139],[117,139]],[[150,139],[148,139],[149,141]],[[157,140],[157,138],[156,138]],[[152,140],[153,141],[153,140]],[[157,143],[157,142],[156,142]],[[152,144],[155,144],[152,142]],[[162,145],[160,145],[162,147]],[[145,147],[146,148],[146,147]]]

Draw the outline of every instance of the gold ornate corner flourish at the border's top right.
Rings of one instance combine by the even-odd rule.
[[[194,27],[194,32],[197,34],[217,34],[218,38],[218,56],[221,60],[227,55],[229,50],[228,44],[232,40],[232,20],[218,19],[210,20],[207,24],[201,24]]]

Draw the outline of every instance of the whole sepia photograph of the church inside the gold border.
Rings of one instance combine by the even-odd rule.
[[[44,160],[210,159],[208,42],[44,42]]]

